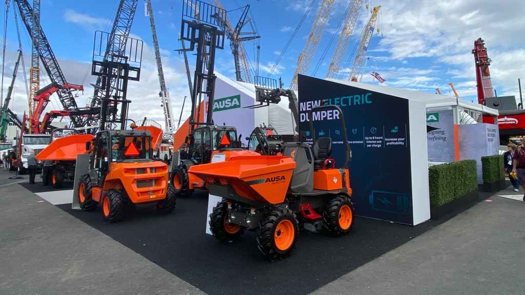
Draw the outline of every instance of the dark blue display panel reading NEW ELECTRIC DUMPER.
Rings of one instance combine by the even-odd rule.
[[[308,111],[313,106],[324,100],[343,111],[352,149],[349,167],[355,214],[413,224],[408,100],[303,75],[298,84],[299,129],[307,131],[308,141],[312,139]],[[312,117],[316,138],[332,138],[335,166],[342,167],[343,129],[338,111],[314,111]]]

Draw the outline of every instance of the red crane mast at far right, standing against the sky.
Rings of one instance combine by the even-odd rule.
[[[489,72],[491,60],[487,55],[487,48],[485,48],[485,41],[483,39],[478,38],[474,41],[472,54],[474,54],[474,61],[476,62],[476,89],[478,92],[478,103],[485,104],[486,98],[494,97],[494,91]]]

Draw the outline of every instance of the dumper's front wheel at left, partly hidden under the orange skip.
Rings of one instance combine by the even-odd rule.
[[[225,199],[217,203],[209,215],[209,227],[212,234],[223,243],[236,241],[244,234],[244,227],[236,224],[228,224],[228,204]]]

